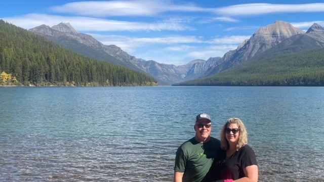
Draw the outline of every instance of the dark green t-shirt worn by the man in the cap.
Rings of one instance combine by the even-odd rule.
[[[220,141],[212,138],[207,143],[194,138],[183,143],[177,150],[174,170],[184,172],[182,181],[208,181],[208,172],[215,159],[223,152]]]

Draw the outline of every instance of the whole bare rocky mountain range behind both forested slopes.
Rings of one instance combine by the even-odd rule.
[[[212,57],[207,61],[198,59],[175,66],[131,56],[116,45],[104,45],[90,35],[77,33],[69,23],[60,23],[52,28],[41,25],[30,31],[79,54],[140,70],[153,76],[160,84],[201,79],[245,65],[255,58],[318,49],[324,42],[324,30],[318,24],[312,25],[304,32],[288,22],[279,20],[261,27],[237,49],[228,51],[223,57]]]

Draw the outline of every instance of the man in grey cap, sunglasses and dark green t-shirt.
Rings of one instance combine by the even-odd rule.
[[[194,130],[194,138],[183,143],[177,150],[174,182],[211,180],[209,171],[212,163],[224,153],[220,148],[220,141],[210,136],[212,121],[208,114],[201,113],[196,116]]]

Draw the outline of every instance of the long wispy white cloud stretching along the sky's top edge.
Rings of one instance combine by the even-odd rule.
[[[172,1],[88,1],[68,3],[51,8],[58,13],[70,13],[83,16],[156,16],[166,12],[206,12],[216,13],[222,17],[240,15],[262,15],[269,13],[324,12],[324,3],[311,4],[239,4],[221,8],[202,8],[194,4],[174,4]],[[252,11],[253,10],[253,11]],[[233,21],[230,18],[223,21]]]

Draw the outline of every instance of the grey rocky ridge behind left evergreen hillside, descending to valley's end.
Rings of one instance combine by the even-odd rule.
[[[70,23],[60,23],[53,27],[41,25],[29,31],[42,35],[78,54],[147,73],[158,80],[159,84],[170,85],[198,78],[204,75],[214,60],[218,60],[218,58],[198,62],[194,60],[181,66],[160,64],[153,60],[146,61],[129,55],[116,45],[104,45],[90,35],[77,33]]]

